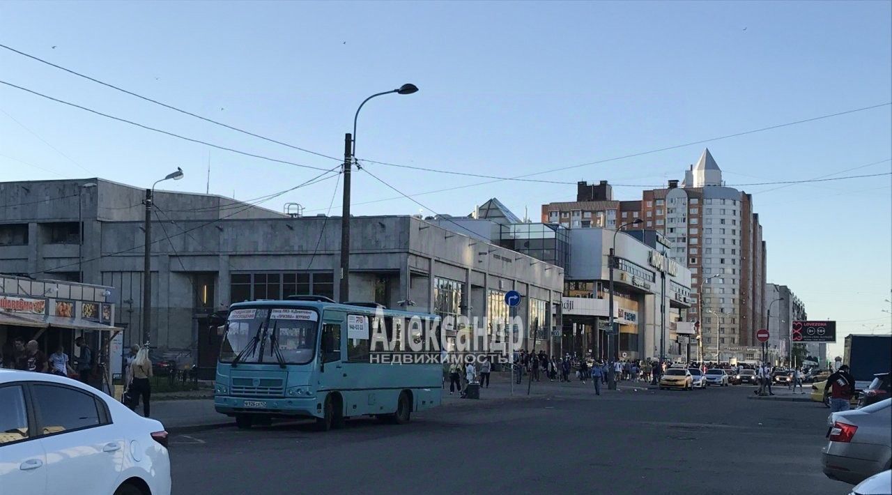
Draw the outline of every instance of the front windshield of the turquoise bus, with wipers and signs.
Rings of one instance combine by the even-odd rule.
[[[303,365],[316,354],[318,314],[312,309],[234,309],[220,362]]]

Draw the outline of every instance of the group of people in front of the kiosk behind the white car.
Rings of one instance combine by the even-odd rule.
[[[59,343],[53,354],[47,358],[44,351],[40,351],[40,344],[37,341],[25,342],[24,339],[17,337],[12,339],[11,345],[5,345],[3,352],[0,353],[0,367],[70,376],[89,384],[95,366],[95,353],[87,346],[83,337],[75,339],[74,345],[80,351],[74,359],[70,359],[65,353],[62,343]]]

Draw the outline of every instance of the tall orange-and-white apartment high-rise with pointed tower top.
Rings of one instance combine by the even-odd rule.
[[[670,180],[665,188],[643,191],[641,201],[615,201],[607,181],[579,183],[576,199],[542,205],[542,221],[585,228],[642,219],[641,227],[665,235],[671,258],[690,269],[693,305],[687,318],[699,323],[705,359],[756,359],[755,333],[765,326],[762,226],[752,196],[724,186],[708,149],[681,185]],[[633,228],[640,227],[625,227]]]

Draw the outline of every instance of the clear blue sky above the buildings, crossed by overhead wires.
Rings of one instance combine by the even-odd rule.
[[[892,101],[889,2],[861,3],[14,3],[0,43],[189,111],[339,156],[367,95],[360,158],[493,175],[647,151]],[[55,46],[55,48],[53,48]],[[316,167],[307,153],[242,136],[0,50],[14,84],[147,125]],[[0,87],[4,180],[105,177],[203,192],[208,149]],[[14,120],[21,122],[16,123]],[[29,128],[30,132],[25,128]],[[37,138],[35,135],[39,136]],[[709,145],[730,184],[819,177],[892,157],[889,107]],[[42,139],[42,140],[41,140]],[[48,144],[46,144],[48,143]],[[659,185],[702,145],[541,176]],[[248,199],[315,171],[211,152],[211,192]],[[407,194],[482,182],[382,165]],[[842,175],[881,173],[889,161]],[[392,197],[366,174],[354,202]],[[287,201],[326,210],[335,181]],[[769,281],[840,333],[892,328],[890,180],[740,187],[755,193]],[[621,199],[640,188],[617,187]],[[498,196],[518,214],[574,186],[501,182],[420,196],[466,214]],[[335,203],[340,202],[336,200]],[[408,200],[356,214],[415,213]],[[428,210],[428,208],[430,210]],[[338,213],[339,210],[333,210]]]

